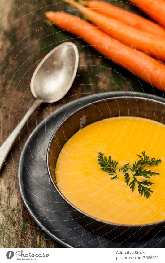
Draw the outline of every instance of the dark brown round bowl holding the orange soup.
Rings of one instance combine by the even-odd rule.
[[[139,97],[115,97],[88,104],[68,116],[55,130],[47,150],[47,168],[55,190],[72,216],[85,228],[107,238],[149,239],[163,234],[165,220],[145,225],[122,225],[92,217],[70,203],[60,192],[56,183],[55,167],[63,145],[80,129],[80,118],[85,114],[84,127],[105,118],[117,116],[135,116],[148,118],[165,124],[162,102]]]

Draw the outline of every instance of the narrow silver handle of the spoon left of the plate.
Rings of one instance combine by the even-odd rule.
[[[0,172],[3,167],[4,162],[6,161],[6,157],[11,151],[11,147],[17,138],[18,134],[20,133],[21,129],[24,127],[25,123],[28,121],[28,118],[30,115],[34,112],[34,110],[39,106],[41,103],[40,100],[36,99],[33,103],[32,107],[28,110],[28,112],[25,114],[25,116],[22,118],[22,120],[19,122],[19,124],[15,127],[15,129],[12,131],[12,133],[9,135],[9,137],[6,139],[5,142],[0,147]]]

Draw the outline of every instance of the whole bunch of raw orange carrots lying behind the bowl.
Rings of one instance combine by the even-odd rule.
[[[104,57],[150,83],[154,87],[165,91],[165,67],[159,60],[165,60],[165,29],[163,28],[164,11],[155,8],[155,20],[159,25],[139,15],[128,12],[110,3],[91,0],[65,0],[79,9],[93,24],[77,16],[64,12],[46,12],[46,17],[59,28],[81,37],[92,45]],[[146,8],[144,2],[150,0],[130,0],[130,2]],[[152,1],[153,2],[153,1]],[[155,5],[164,0],[154,0]],[[150,8],[149,8],[150,7]],[[148,6],[147,14],[153,12],[153,6]],[[146,10],[146,9],[145,9]],[[149,12],[150,11],[150,12]],[[164,16],[162,15],[164,14]],[[152,16],[153,18],[153,16]],[[155,58],[153,58],[155,57]]]

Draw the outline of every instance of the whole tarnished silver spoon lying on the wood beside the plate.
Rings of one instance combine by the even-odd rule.
[[[52,49],[35,69],[30,89],[36,98],[32,107],[0,147],[0,171],[11,147],[29,116],[40,103],[53,103],[63,98],[75,79],[79,61],[78,49],[72,42],[65,42]]]

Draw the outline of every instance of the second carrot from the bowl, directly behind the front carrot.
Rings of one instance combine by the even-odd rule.
[[[136,46],[138,50],[144,51],[158,59],[165,59],[165,39],[153,37],[144,31],[121,21],[110,19],[101,15],[75,1],[64,0],[76,7],[88,20],[97,25],[105,33],[130,46]]]

